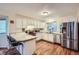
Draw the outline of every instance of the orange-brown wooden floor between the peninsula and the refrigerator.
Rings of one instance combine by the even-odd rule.
[[[46,41],[39,41],[36,45],[36,51],[34,54],[37,55],[79,55],[78,51],[76,52],[66,49],[60,45],[48,43]]]

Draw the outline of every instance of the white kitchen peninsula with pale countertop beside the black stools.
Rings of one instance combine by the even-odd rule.
[[[11,37],[13,37],[17,42],[21,42],[23,47],[23,51],[18,50],[23,55],[32,55],[36,49],[36,36],[28,35],[26,33],[11,33]],[[22,53],[23,52],[23,53]]]

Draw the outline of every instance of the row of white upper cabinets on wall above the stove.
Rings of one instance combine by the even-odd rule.
[[[31,18],[23,18],[17,17],[16,18],[16,28],[27,28],[27,26],[34,26],[35,28],[44,28],[44,23],[37,19]]]

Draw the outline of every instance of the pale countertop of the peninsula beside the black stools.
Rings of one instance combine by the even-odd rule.
[[[37,36],[28,35],[26,33],[11,34],[11,37],[13,37],[16,41],[21,41],[21,42],[25,42],[37,38]]]

